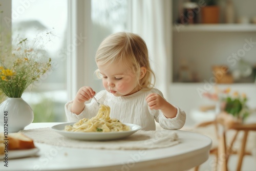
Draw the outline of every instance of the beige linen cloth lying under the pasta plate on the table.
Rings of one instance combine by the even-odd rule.
[[[152,149],[178,144],[177,131],[138,131],[133,135],[111,141],[82,141],[64,137],[50,127],[20,131],[34,142],[50,145],[97,149]]]

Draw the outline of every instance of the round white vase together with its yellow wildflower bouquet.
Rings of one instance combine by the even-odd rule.
[[[23,130],[33,121],[33,111],[22,94],[51,70],[51,58],[38,45],[29,46],[27,38],[0,45],[0,91],[7,97],[0,104],[0,125],[8,132]]]

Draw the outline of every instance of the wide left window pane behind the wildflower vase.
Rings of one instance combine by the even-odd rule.
[[[33,122],[66,119],[63,106],[67,102],[67,65],[61,54],[67,44],[67,4],[63,0],[12,1],[13,38],[18,36],[32,40],[44,31],[52,34],[45,51],[52,58],[53,70],[22,96],[33,109]]]

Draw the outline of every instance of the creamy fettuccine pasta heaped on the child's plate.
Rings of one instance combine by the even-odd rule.
[[[130,131],[130,126],[117,119],[110,118],[110,107],[101,104],[97,115],[91,119],[83,118],[73,125],[66,125],[65,131],[70,132],[118,132]]]

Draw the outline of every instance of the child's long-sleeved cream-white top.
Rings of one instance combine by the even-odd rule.
[[[158,89],[150,91],[140,90],[129,96],[115,97],[106,90],[102,90],[95,95],[95,98],[102,104],[110,106],[110,117],[120,120],[122,123],[133,123],[142,126],[142,130],[156,130],[156,122],[166,130],[181,129],[185,124],[186,114],[177,106],[177,116],[175,118],[166,118],[160,110],[151,110],[145,100],[150,93],[157,93],[163,97],[162,92]],[[84,110],[76,115],[71,112],[73,101],[65,105],[66,116],[69,122],[77,122],[82,118],[92,118],[96,116],[99,106],[95,100],[88,104]]]

